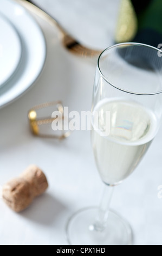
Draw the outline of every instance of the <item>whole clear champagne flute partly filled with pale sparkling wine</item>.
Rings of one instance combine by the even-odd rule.
[[[67,225],[71,245],[131,245],[132,229],[109,209],[114,186],[138,166],[162,114],[162,52],[122,43],[103,51],[96,69],[92,145],[105,191],[99,208],[83,209]]]

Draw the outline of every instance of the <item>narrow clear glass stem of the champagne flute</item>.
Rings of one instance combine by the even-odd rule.
[[[113,186],[105,185],[98,215],[96,216],[96,221],[94,224],[94,229],[96,231],[103,231],[106,228],[113,191]]]

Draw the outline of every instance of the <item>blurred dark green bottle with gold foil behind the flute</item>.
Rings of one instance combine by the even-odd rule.
[[[162,43],[162,1],[122,0],[115,41],[158,47]]]

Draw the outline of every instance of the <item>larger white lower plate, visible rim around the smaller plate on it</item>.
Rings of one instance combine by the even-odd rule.
[[[37,22],[21,5],[12,0],[0,0],[0,14],[15,27],[22,44],[20,65],[5,86],[0,88],[2,107],[22,95],[35,82],[46,59],[46,42]]]

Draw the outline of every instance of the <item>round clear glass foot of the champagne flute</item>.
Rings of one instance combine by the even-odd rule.
[[[110,210],[106,228],[96,231],[97,214],[98,208],[86,208],[69,219],[66,227],[69,245],[132,245],[132,229],[122,217]]]

